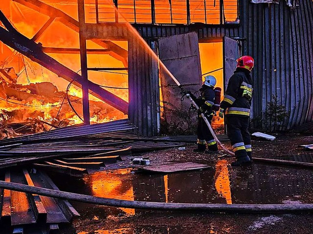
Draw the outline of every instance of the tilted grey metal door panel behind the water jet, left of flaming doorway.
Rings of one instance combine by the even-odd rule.
[[[197,33],[193,32],[159,39],[159,55],[169,71],[179,82],[184,84],[186,89],[194,93],[200,88],[202,79]],[[163,100],[166,103],[170,103],[169,106],[172,108],[177,107],[188,110],[190,103],[181,102],[180,88],[176,84],[173,85],[172,78],[165,71],[161,70],[161,73]],[[171,115],[171,112],[167,112],[166,109],[164,108],[164,114],[168,123],[174,122],[178,124],[181,122],[179,116]]]

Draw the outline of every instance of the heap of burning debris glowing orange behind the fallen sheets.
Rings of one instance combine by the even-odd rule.
[[[82,98],[72,95],[70,86],[59,91],[51,82],[18,84],[17,81],[13,68],[0,69],[1,138],[16,136],[14,130],[35,133],[83,122]],[[108,122],[119,115],[110,105],[90,100],[91,123]]]

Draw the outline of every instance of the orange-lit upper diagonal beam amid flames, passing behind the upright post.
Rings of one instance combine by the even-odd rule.
[[[59,22],[63,23],[70,29],[74,30],[75,32],[79,32],[79,23],[77,20],[71,18],[63,11],[56,9],[44,2],[39,0],[14,0],[24,6],[27,6],[35,11],[38,11],[42,14],[45,14],[49,17],[56,17]],[[110,49],[110,55],[123,62],[125,66],[128,66],[128,52],[127,50],[123,49],[122,47],[118,46],[117,44],[113,43],[112,41],[101,40],[101,39],[91,39],[93,42],[97,43],[98,45],[102,46],[103,48]]]

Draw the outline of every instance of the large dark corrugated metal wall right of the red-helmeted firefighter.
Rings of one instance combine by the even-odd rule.
[[[291,9],[279,4],[240,1],[244,54],[255,59],[253,114],[264,111],[272,95],[290,114],[282,129],[313,119],[313,1]]]

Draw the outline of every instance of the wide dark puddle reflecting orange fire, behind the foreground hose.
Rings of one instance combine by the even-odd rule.
[[[167,175],[135,173],[132,169],[102,171],[77,183],[78,186],[74,181],[60,189],[99,197],[168,203],[313,203],[313,188],[308,186],[313,183],[310,170],[262,164],[233,169],[227,167],[226,160],[218,161],[212,170]],[[75,208],[84,215],[90,213],[91,218],[96,215],[100,221],[143,212],[82,203]]]

